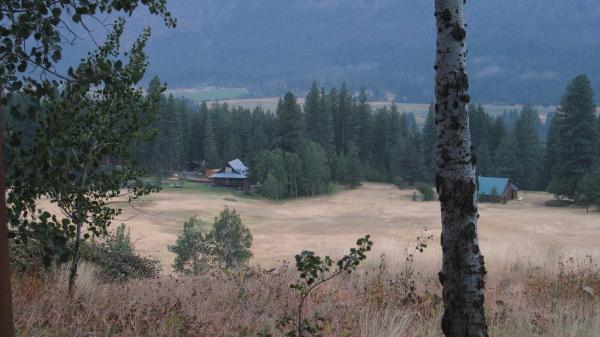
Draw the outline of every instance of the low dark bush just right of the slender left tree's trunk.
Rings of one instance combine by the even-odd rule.
[[[135,251],[129,230],[124,224],[102,242],[84,241],[81,259],[98,266],[97,276],[106,282],[157,277],[160,273],[158,260],[141,256]]]

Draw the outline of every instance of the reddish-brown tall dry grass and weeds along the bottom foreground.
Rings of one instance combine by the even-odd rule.
[[[551,267],[506,256],[512,261],[491,268],[487,279],[490,336],[600,336],[600,269],[593,258],[557,258]],[[433,268],[422,268],[416,297],[407,300],[398,279],[401,267],[372,260],[308,299],[305,313],[325,318],[323,335],[441,336],[441,288],[429,272]],[[73,297],[65,275],[58,270],[15,279],[19,336],[281,336],[277,321],[293,317],[298,301],[289,288],[296,272],[285,263],[271,271],[120,284],[100,283],[93,266],[86,266]]]

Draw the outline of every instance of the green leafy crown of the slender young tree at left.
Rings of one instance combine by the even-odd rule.
[[[30,118],[35,133],[29,143],[22,143],[22,130],[8,128],[7,182],[13,187],[8,220],[17,242],[36,239],[49,257],[64,260],[70,239],[106,235],[121,213],[109,205],[110,199],[126,196],[132,202],[156,190],[137,181],[141,172],[128,157],[131,143],[151,121],[162,88],[145,97],[133,87],[146,67],[148,31],[134,44],[128,63],[115,61],[123,29],[124,21],[118,20],[105,44],[71,72],[78,81],[34,101],[31,114],[22,113],[27,100],[9,107],[15,119]],[[90,92],[90,87],[97,89]],[[39,208],[41,198],[48,198],[65,217]]]

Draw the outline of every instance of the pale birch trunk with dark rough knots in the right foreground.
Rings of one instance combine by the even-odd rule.
[[[437,48],[436,188],[442,213],[442,270],[446,337],[487,337],[483,307],[485,267],[477,239],[475,154],[466,105],[465,0],[435,0]]]

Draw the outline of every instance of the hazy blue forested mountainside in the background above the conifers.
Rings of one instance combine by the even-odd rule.
[[[134,25],[157,26],[149,73],[171,88],[244,86],[280,96],[318,80],[365,86],[374,99],[433,97],[431,1],[178,0],[169,7],[177,29],[145,16]],[[563,84],[582,72],[600,87],[598,1],[474,1],[467,16],[477,101],[556,104]]]

